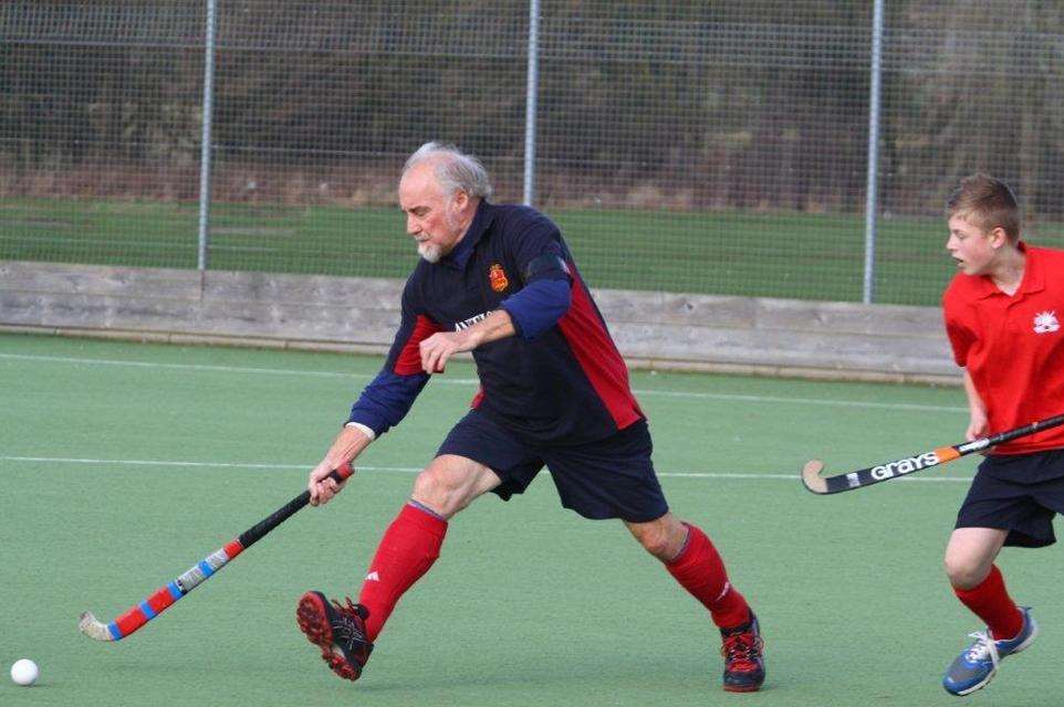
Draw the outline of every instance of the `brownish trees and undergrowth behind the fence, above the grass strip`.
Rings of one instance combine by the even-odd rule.
[[[202,4],[4,3],[0,189],[109,165],[164,193],[161,182],[195,172]],[[870,4],[544,1],[542,198],[859,211]],[[356,6],[219,2],[219,166],[311,184],[379,179],[382,165],[439,137],[520,193],[528,4]],[[1010,7],[887,3],[884,208],[937,208],[957,178],[982,169],[1016,183],[1039,213],[1064,210],[1062,10]]]

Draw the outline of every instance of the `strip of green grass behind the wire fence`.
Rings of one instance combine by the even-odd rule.
[[[551,211],[595,287],[859,300],[864,221],[823,214]],[[190,203],[7,200],[0,260],[195,267]],[[215,204],[209,266],[405,277],[397,209]],[[883,219],[876,300],[936,304],[952,275],[939,220]],[[1064,230],[1040,242],[1064,245]],[[1054,235],[1055,233],[1055,235]]]

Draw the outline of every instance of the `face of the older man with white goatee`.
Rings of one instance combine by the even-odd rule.
[[[406,214],[406,232],[417,241],[418,254],[436,263],[462,236],[459,213],[469,197],[458,191],[445,194],[430,162],[413,168],[399,182],[399,208]]]

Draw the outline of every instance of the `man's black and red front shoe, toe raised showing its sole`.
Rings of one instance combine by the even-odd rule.
[[[307,641],[322,650],[322,659],[333,673],[345,680],[362,676],[373,643],[366,637],[366,619],[369,611],[362,604],[343,606],[338,601],[330,603],[321,592],[306,592],[300,597],[295,621]]]

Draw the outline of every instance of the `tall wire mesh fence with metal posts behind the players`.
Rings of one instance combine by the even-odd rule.
[[[212,45],[208,7],[0,4],[0,258],[197,267],[209,215],[211,268],[401,277],[428,139],[593,286],[935,304],[978,170],[1064,245],[1060,2],[217,0]]]

